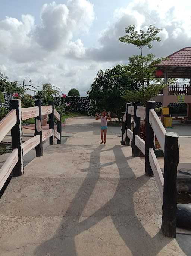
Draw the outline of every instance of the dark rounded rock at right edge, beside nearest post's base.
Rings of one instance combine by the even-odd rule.
[[[191,230],[191,204],[178,204],[176,226]]]

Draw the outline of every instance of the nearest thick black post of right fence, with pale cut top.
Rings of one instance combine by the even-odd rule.
[[[166,237],[176,237],[176,176],[179,163],[178,134],[165,134],[163,217],[161,231]]]

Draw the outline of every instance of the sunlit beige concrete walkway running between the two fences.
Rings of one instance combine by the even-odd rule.
[[[100,144],[94,118],[67,120],[63,145],[25,166],[0,200],[1,256],[183,256],[160,232],[162,201],[144,162],[120,145],[119,127]]]

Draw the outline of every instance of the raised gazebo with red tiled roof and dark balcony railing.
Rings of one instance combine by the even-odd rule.
[[[167,107],[170,103],[187,103],[188,119],[191,119],[191,47],[185,47],[167,56],[166,60],[156,64],[156,78],[164,78],[168,84],[169,78],[190,79],[188,82],[176,82],[168,85],[160,95],[153,97]]]

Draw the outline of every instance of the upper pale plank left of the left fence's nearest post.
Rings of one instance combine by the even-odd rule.
[[[12,129],[16,124],[16,109],[12,109],[1,121],[0,121],[0,142],[4,136]]]

